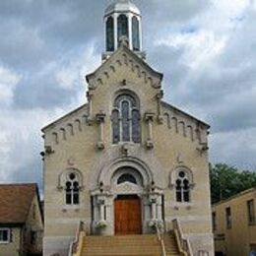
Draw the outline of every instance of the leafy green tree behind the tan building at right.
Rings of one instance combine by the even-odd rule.
[[[210,164],[210,177],[213,204],[256,186],[256,172],[240,171],[225,163]]]

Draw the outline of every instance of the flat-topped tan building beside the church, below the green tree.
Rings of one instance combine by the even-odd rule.
[[[256,255],[256,188],[215,204],[212,211],[217,255]]]

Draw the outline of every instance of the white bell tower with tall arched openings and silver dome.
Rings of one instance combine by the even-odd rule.
[[[130,0],[113,0],[104,12],[105,52],[108,58],[126,40],[127,46],[145,58],[142,51],[142,17],[138,7]]]

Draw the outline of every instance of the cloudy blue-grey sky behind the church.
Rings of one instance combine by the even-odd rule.
[[[40,129],[86,102],[109,2],[0,1],[0,182],[42,186]],[[256,170],[256,1],[133,2],[164,100],[211,124],[213,163]]]

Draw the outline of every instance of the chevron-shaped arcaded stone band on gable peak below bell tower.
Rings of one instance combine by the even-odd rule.
[[[138,77],[142,77],[146,84],[153,88],[160,89],[163,75],[155,71],[147,62],[140,58],[135,52],[122,44],[110,57],[103,62],[94,73],[86,76],[90,90],[95,90],[97,86],[104,83],[116,69],[126,65],[135,72]]]

